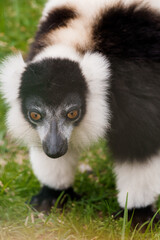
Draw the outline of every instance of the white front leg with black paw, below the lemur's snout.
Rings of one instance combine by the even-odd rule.
[[[49,213],[53,206],[63,207],[68,199],[79,199],[72,185],[77,165],[77,153],[68,151],[63,157],[52,159],[41,148],[30,149],[33,171],[44,185],[30,204],[38,211]]]

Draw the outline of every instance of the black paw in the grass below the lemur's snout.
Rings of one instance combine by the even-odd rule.
[[[71,187],[66,190],[55,190],[44,186],[39,194],[32,197],[30,205],[35,210],[48,214],[54,206],[63,208],[68,199],[79,200],[80,196]]]

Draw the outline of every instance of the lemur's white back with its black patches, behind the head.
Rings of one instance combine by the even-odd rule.
[[[159,60],[160,10],[151,10],[150,4],[131,0],[78,4],[73,0],[51,0],[43,12],[29,60],[53,44],[72,46],[80,53],[90,50],[107,57]]]

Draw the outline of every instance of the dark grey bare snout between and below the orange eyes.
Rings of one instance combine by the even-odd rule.
[[[43,150],[50,158],[59,158],[67,152],[67,139],[58,133],[56,124],[52,124],[50,132],[43,141]]]

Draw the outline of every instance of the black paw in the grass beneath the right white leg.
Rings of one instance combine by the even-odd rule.
[[[128,221],[131,221],[131,225],[133,228],[136,226],[139,228],[142,225],[142,231],[148,227],[148,224],[153,223],[153,226],[160,221],[160,214],[153,211],[152,206],[144,207],[144,208],[135,208],[128,210]],[[154,216],[155,215],[155,216]],[[124,210],[119,211],[119,214],[114,214],[114,218],[120,218],[124,216]],[[146,223],[146,224],[144,224]]]

